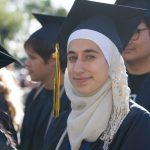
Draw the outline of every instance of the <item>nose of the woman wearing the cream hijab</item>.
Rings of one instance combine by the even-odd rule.
[[[74,64],[74,72],[75,73],[84,72],[84,62],[81,59],[78,59]]]

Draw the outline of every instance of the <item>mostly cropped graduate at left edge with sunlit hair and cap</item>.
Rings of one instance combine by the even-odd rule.
[[[13,62],[22,65],[19,60],[10,55],[0,45],[0,68],[4,68]],[[17,103],[13,103],[13,100],[20,100],[20,97],[17,97],[17,94],[12,94],[19,91],[15,88],[14,76],[5,69],[1,69],[0,73],[0,149],[13,150],[18,144],[17,129],[19,129],[15,120],[17,112],[15,108],[20,107]],[[11,86],[13,89],[9,88]]]

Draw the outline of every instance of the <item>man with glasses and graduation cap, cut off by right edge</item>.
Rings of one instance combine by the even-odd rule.
[[[115,4],[148,9],[122,52],[131,98],[150,111],[150,1],[117,0]]]

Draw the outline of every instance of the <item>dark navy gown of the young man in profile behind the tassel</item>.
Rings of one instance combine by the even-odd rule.
[[[34,91],[34,92],[33,92]],[[36,93],[34,89],[27,100],[27,108],[23,119],[21,131],[20,150],[41,150],[48,120],[52,111],[53,91],[42,89],[35,100],[33,96]],[[70,102],[65,101],[62,95],[61,111],[65,110]]]

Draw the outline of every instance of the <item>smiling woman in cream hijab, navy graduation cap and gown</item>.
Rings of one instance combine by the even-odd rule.
[[[43,150],[149,150],[150,113],[129,99],[120,54],[143,12],[75,1],[58,36],[60,47],[66,45],[64,87],[71,110],[52,122]],[[124,21],[133,24],[123,41]]]

